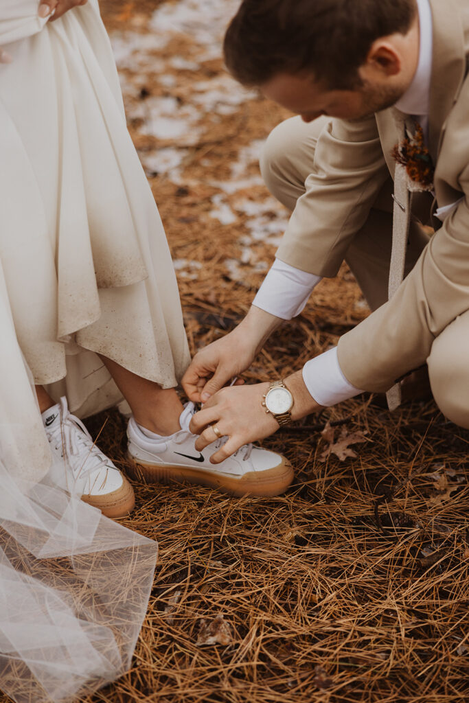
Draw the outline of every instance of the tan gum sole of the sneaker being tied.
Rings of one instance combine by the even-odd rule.
[[[262,472],[251,471],[239,479],[229,475],[203,471],[190,466],[155,465],[136,460],[127,454],[130,465],[126,467],[127,474],[141,483],[171,484],[190,483],[199,486],[210,486],[231,496],[258,496],[270,498],[280,496],[293,482],[293,468],[290,462],[283,459],[272,469]]]

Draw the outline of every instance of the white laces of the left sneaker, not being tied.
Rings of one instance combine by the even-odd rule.
[[[52,429],[46,427],[46,434],[49,441],[52,439],[56,442],[55,449],[62,450],[65,460],[79,456],[83,453],[83,449],[86,449],[86,456],[81,466],[74,467],[70,461],[68,462],[76,478],[107,467],[106,458],[94,444],[82,421],[70,413],[63,398],[60,399],[60,423]],[[91,457],[93,460],[88,461]],[[88,463],[87,467],[85,467],[86,463]]]

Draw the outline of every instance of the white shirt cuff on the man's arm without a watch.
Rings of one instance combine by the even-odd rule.
[[[276,259],[252,304],[283,320],[303,311],[321,276],[295,269]]]

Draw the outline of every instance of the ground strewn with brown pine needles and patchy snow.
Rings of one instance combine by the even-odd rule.
[[[101,1],[191,352],[243,317],[288,218],[257,165],[288,115],[240,89],[220,58],[236,5]],[[301,368],[366,314],[344,266],[246,380]],[[469,432],[432,401],[393,414],[375,401],[360,396],[264,441],[295,466],[285,496],[134,484],[136,511],[122,522],[160,545],[148,616],[129,673],[83,703],[466,699]],[[104,421],[101,448],[125,470],[124,420],[110,412],[88,425]],[[334,439],[321,435],[327,422]],[[360,440],[354,456],[329,451],[340,437]]]

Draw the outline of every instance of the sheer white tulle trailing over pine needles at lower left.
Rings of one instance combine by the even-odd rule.
[[[1,273],[0,688],[59,703],[129,668],[158,546],[65,490]]]

